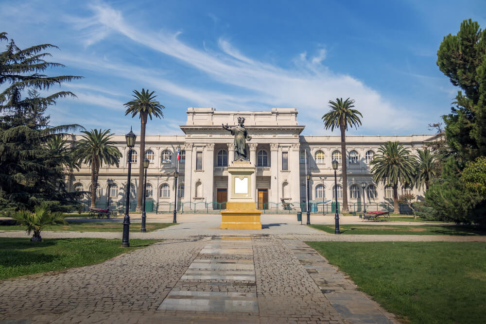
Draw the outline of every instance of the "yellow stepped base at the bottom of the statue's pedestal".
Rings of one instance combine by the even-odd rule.
[[[255,203],[226,203],[221,211],[221,229],[261,229],[261,211]]]

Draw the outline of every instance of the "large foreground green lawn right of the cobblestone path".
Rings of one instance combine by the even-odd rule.
[[[306,243],[405,321],[485,321],[485,242]]]

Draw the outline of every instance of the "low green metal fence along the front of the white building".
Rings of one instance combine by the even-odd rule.
[[[90,202],[81,202],[80,204],[80,211],[87,212],[89,211]],[[152,213],[155,212],[156,214],[162,213],[172,213],[174,212],[174,203],[169,202],[162,202],[162,203],[155,203],[153,201],[147,201],[145,203],[145,211]],[[394,211],[394,206],[391,203],[383,202],[383,203],[354,203],[348,204],[349,213],[351,214],[359,214],[363,213],[364,207],[366,207],[366,211],[377,211],[377,210],[387,210],[389,212]],[[100,202],[96,203],[96,208],[106,209],[106,203]],[[116,211],[119,214],[123,214],[125,212],[125,202],[111,202],[109,209],[112,211]],[[134,212],[137,208],[137,201],[130,201],[130,208],[129,211]],[[292,214],[296,212],[303,212],[307,213],[307,205],[306,203],[255,203],[255,208],[261,210],[262,214]],[[191,203],[191,202],[178,202],[177,203],[177,212],[178,213],[198,213],[198,214],[219,214],[221,210],[226,209],[226,203],[217,203],[217,202],[199,202],[199,203]],[[340,212],[341,204],[338,202],[338,212]],[[78,211],[77,205],[73,205],[71,212]],[[328,202],[328,203],[309,203],[309,212],[311,214],[334,214],[335,213],[335,203]],[[399,204],[399,213],[403,215],[412,215],[412,209],[406,204]]]

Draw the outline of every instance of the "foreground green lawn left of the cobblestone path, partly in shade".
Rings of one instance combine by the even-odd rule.
[[[0,280],[95,264],[156,241],[130,239],[130,247],[121,248],[120,239],[0,238]]]

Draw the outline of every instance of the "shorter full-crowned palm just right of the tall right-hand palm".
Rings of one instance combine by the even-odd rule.
[[[393,187],[393,209],[399,213],[398,184],[409,186],[414,182],[417,160],[402,144],[385,142],[370,162],[373,180]]]

